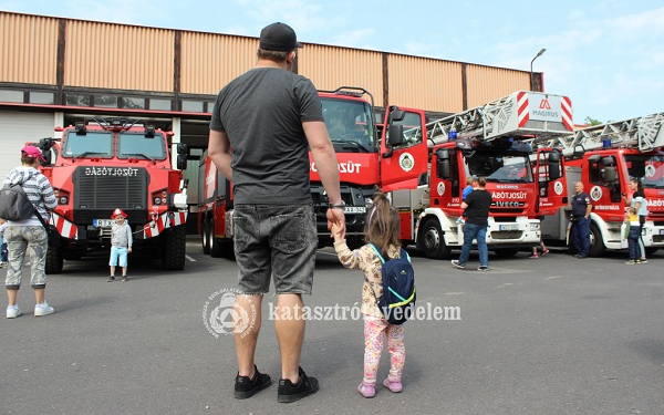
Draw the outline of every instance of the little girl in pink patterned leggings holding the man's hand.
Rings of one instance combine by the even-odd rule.
[[[367,245],[360,249],[351,251],[345,239],[341,239],[339,228],[335,226],[332,226],[332,234],[334,249],[341,263],[345,268],[364,271],[361,309],[364,315],[364,378],[357,386],[357,391],[364,397],[374,397],[378,362],[383,351],[383,336],[387,336],[387,350],[391,355],[390,375],[383,382],[383,386],[392,392],[402,392],[401,376],[406,354],[404,326],[387,323],[378,309],[378,299],[383,295],[382,262],[370,245],[377,246],[385,259],[398,257],[401,252],[398,212],[390,206],[387,196],[381,193],[374,197],[373,207],[367,217],[364,228],[364,241]]]

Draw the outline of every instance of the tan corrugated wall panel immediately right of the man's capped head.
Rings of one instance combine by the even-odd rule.
[[[382,60],[382,52],[308,43],[298,51],[298,73],[323,91],[363,87],[375,105],[384,106]]]

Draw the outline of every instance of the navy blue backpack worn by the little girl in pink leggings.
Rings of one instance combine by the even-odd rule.
[[[383,297],[378,299],[378,309],[390,324],[403,324],[413,317],[415,309],[415,271],[411,257],[401,248],[400,258],[385,261],[381,250],[370,245],[383,262]]]

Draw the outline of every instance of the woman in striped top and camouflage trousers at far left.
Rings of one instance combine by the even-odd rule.
[[[21,166],[11,170],[3,183],[4,186],[20,185],[35,208],[34,212],[27,219],[8,220],[4,230],[4,240],[9,248],[9,267],[4,281],[8,298],[8,319],[21,315],[21,310],[17,305],[17,294],[21,287],[23,263],[28,252],[32,257],[30,286],[34,289],[34,315],[49,315],[54,312],[53,308],[44,300],[46,287],[44,268],[49,249],[49,236],[37,215],[41,215],[48,221],[49,212],[46,209],[54,209],[58,201],[51,183],[49,183],[46,176],[38,170],[40,162],[45,162],[45,159],[39,148],[34,146],[23,147],[21,149]]]

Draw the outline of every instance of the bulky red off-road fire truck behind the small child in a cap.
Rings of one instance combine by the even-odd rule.
[[[134,231],[134,249],[162,259],[167,270],[185,266],[186,204],[180,169],[188,148],[178,144],[177,167],[172,168],[169,137],[154,126],[126,118],[91,118],[65,128],[62,138],[42,138],[38,145],[46,163],[58,207],[51,225],[61,236],[60,248],[49,248],[46,273],[62,271],[63,260],[111,246],[111,214],[124,210]]]

